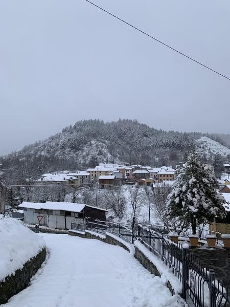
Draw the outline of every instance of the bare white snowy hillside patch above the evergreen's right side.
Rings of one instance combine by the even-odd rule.
[[[219,154],[223,157],[230,155],[230,149],[221,145],[220,143],[208,138],[201,137],[197,141],[197,151],[205,155],[207,158]]]

